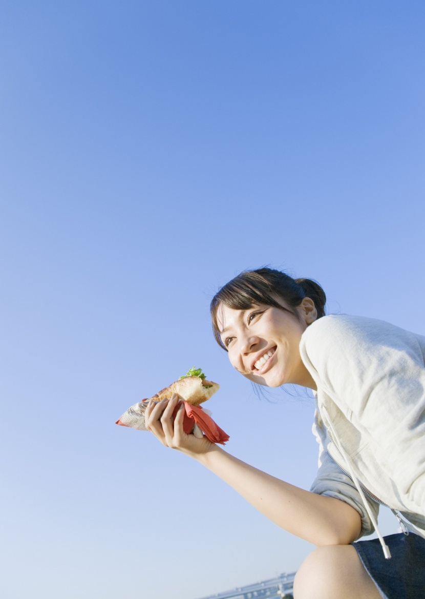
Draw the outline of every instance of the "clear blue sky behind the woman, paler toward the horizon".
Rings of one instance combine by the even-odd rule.
[[[295,570],[308,543],[114,421],[201,366],[229,452],[308,488],[311,400],[256,397],[214,292],[270,264],[425,333],[424,4],[17,0],[0,23],[0,594]]]

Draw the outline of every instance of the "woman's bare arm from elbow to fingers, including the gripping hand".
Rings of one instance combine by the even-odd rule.
[[[178,449],[217,474],[252,506],[289,533],[315,545],[348,544],[360,534],[359,513],[344,501],[317,495],[245,464],[206,437],[183,432],[183,410],[172,422],[177,396],[151,404],[145,422],[168,447]],[[164,409],[165,408],[165,409]]]

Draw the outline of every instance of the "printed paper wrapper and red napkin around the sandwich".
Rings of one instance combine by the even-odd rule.
[[[147,430],[145,427],[145,409],[148,402],[149,400],[142,400],[138,404],[129,407],[119,420],[117,420],[116,424],[136,428],[138,431]],[[195,437],[205,435],[212,443],[220,443],[221,445],[224,445],[229,440],[229,435],[212,420],[210,410],[205,410],[201,406],[191,406],[187,401],[181,403],[183,403],[185,409],[183,430],[186,434],[192,433]],[[179,407],[180,404],[174,410],[174,417]]]

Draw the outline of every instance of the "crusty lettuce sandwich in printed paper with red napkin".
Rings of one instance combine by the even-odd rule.
[[[184,432],[186,434],[193,434],[195,437],[203,437],[205,435],[212,443],[221,443],[224,445],[225,441],[229,440],[229,435],[212,420],[210,410],[205,410],[200,405],[209,400],[219,388],[220,385],[206,379],[201,368],[195,368],[194,366],[186,374],[181,376],[180,379],[157,392],[153,397],[129,407],[119,420],[116,421],[116,424],[136,428],[139,431],[146,431],[145,409],[149,401],[153,400],[157,403],[165,398],[171,399],[175,393],[179,400],[183,401],[186,410],[183,419]],[[181,401],[175,409],[174,417]]]

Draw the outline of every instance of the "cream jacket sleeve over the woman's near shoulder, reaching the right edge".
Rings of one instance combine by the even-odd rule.
[[[318,387],[368,438],[379,467],[408,510],[425,515],[425,368],[420,340],[380,320],[325,316],[307,329],[300,351]]]

